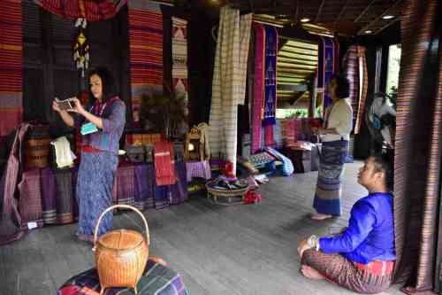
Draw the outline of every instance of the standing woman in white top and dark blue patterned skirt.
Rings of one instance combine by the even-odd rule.
[[[332,103],[325,112],[322,128],[313,128],[321,136],[322,149],[317,175],[313,207],[314,220],[339,216],[341,209],[341,182],[348,154],[348,141],[353,128],[353,110],[348,101],[350,84],[345,76],[335,75],[328,93]]]

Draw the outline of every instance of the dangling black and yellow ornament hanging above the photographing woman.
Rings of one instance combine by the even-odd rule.
[[[77,19],[75,27],[78,27],[75,42],[73,43],[73,60],[78,70],[81,70],[81,77],[84,77],[84,71],[89,67],[89,43],[86,37],[86,19]]]

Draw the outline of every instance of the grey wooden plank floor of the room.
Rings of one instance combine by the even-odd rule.
[[[347,164],[345,214],[311,221],[316,173],[272,177],[257,205],[217,206],[205,198],[145,212],[150,253],[167,260],[193,295],[352,294],[299,272],[296,247],[310,234],[347,225],[348,211],[365,194],[356,183],[362,162]],[[135,213],[121,213],[115,228],[141,229]],[[21,241],[0,247],[0,294],[56,294],[69,277],[94,266],[94,253],[74,239],[76,224],[34,229]],[[402,294],[393,286],[385,294]]]

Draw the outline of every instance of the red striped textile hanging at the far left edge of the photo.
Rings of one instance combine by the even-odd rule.
[[[23,34],[21,0],[4,0],[0,10],[0,136],[22,120]]]

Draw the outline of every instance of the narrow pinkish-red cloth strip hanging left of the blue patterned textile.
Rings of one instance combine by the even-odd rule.
[[[253,23],[255,28],[255,100],[253,102],[253,138],[252,153],[261,149],[261,128],[264,103],[264,53],[265,29]]]

